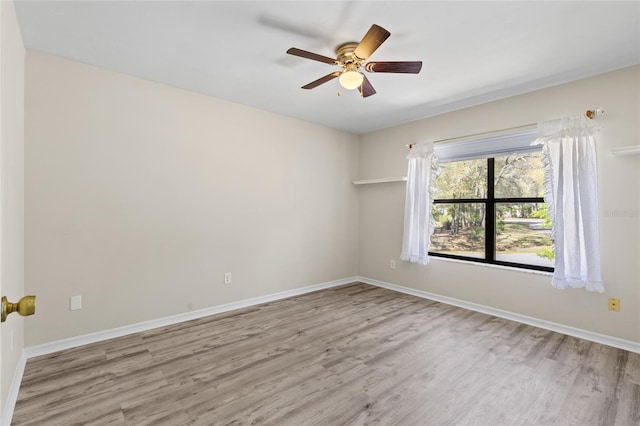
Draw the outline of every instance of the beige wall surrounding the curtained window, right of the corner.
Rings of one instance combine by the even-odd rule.
[[[360,178],[406,175],[405,145],[551,120],[603,107],[597,118],[600,233],[604,294],[556,290],[527,272],[433,260],[398,262],[402,243],[401,183],[363,185],[360,194],[361,276],[592,332],[640,342],[639,156],[611,148],[640,144],[640,67],[564,84],[363,135]],[[620,312],[607,309],[618,297]]]

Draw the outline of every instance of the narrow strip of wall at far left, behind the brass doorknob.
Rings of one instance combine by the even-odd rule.
[[[24,58],[13,2],[0,2],[0,293],[11,302],[24,296]],[[28,320],[13,314],[0,326],[2,412]]]

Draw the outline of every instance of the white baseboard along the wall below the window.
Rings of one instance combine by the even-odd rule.
[[[483,314],[493,315],[516,322],[520,322],[534,327],[543,328],[545,330],[556,331],[558,333],[566,334],[569,336],[577,337],[591,342],[601,343],[607,346],[613,346],[614,348],[624,349],[629,352],[640,353],[640,343],[631,340],[620,339],[617,337],[607,336],[606,334],[594,333],[592,331],[583,330],[580,328],[570,327],[563,324],[558,324],[551,321],[545,321],[538,318],[529,317],[526,315],[516,314],[514,312],[503,311],[500,309],[491,308],[489,306],[478,305],[476,303],[466,302],[464,300],[454,299],[452,297],[440,296],[438,294],[429,293],[422,290],[416,290],[413,288],[403,287],[396,284],[387,283],[384,281],[374,280],[372,278],[358,277],[358,281],[375,285],[377,287],[386,288],[389,290],[399,291],[401,293],[411,294],[413,296],[421,297],[423,299],[435,300],[436,302],[446,303],[448,305],[458,306],[460,308],[469,309]]]

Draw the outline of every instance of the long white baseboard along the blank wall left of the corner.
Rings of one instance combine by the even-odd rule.
[[[197,311],[185,312],[182,314],[172,315],[170,317],[158,318],[151,321],[140,322],[136,324],[126,325],[123,327],[112,328],[110,330],[98,331],[95,333],[84,334],[81,336],[70,337],[68,339],[57,340],[55,342],[44,343],[36,346],[29,346],[24,349],[27,359],[40,355],[46,355],[53,352],[71,349],[90,343],[101,342],[103,340],[122,337],[132,333],[148,331],[154,328],[166,327],[185,321],[206,317],[209,315],[220,314],[223,312],[233,311],[235,309],[246,308],[249,306],[259,305],[261,303],[273,302],[275,300],[286,299],[287,297],[298,296],[313,291],[323,290],[326,288],[336,287],[339,285],[349,284],[358,281],[358,277],[343,278],[336,281],[329,281],[320,284],[300,287],[293,290],[281,291],[278,293],[268,294],[266,296],[253,297],[237,302],[227,303],[224,305],[212,306],[210,308],[199,309]]]

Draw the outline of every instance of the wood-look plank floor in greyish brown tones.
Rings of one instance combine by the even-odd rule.
[[[640,355],[354,283],[30,359],[13,425],[638,425]]]

